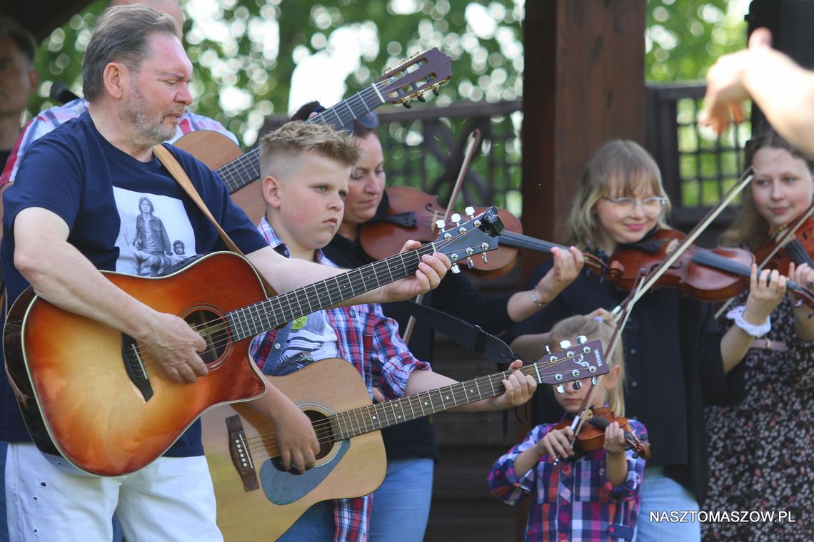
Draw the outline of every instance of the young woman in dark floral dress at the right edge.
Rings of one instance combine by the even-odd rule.
[[[739,215],[724,232],[724,241],[759,251],[770,241],[770,230],[797,222],[811,206],[814,162],[775,132],[755,137],[746,160],[755,167],[755,178],[743,192]],[[807,263],[796,268],[790,264],[788,275],[799,284],[814,282]],[[734,305],[742,302],[739,297]],[[811,312],[794,299],[781,302],[772,312],[771,330],[762,338],[785,343],[788,351],[752,350],[743,363],[746,400],[707,410],[707,508],[787,510],[796,522],[706,523],[702,531],[710,540],[814,539],[814,447],[807,423],[800,427],[814,414]]]

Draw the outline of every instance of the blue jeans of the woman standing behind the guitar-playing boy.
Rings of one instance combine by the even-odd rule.
[[[387,475],[373,494],[370,542],[424,540],[434,468],[428,457],[387,460]]]

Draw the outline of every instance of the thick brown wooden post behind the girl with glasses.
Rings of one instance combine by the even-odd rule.
[[[614,138],[645,142],[646,0],[526,2],[523,232],[565,241],[584,165]],[[539,265],[526,254],[523,277]]]

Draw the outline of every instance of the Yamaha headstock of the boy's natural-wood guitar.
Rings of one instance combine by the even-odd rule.
[[[587,340],[578,336],[576,344],[563,341],[562,349],[548,353],[538,362],[540,384],[560,385],[574,380],[606,375],[610,368],[605,362],[601,340]],[[559,390],[558,390],[559,391]]]

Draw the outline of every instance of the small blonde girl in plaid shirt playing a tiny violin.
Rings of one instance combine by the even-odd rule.
[[[552,346],[560,340],[584,335],[608,345],[614,326],[602,317],[572,316],[551,330]],[[554,349],[554,348],[552,348]],[[624,362],[620,345],[610,359],[610,371],[593,392],[590,406],[610,406],[624,415]],[[604,444],[584,451],[576,440],[571,419],[580,410],[591,379],[562,384],[554,397],[566,415],[563,423],[544,423],[529,431],[519,444],[492,466],[488,483],[500,501],[514,505],[531,494],[524,540],[631,540],[640,505],[645,459],[626,450],[625,431],[619,422],[605,429]],[[551,390],[558,387],[549,386]],[[629,429],[643,436],[645,427],[628,420]],[[593,446],[584,446],[591,448]],[[575,449],[576,448],[576,449]]]

